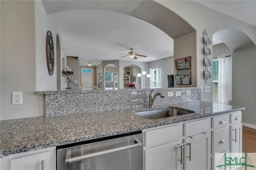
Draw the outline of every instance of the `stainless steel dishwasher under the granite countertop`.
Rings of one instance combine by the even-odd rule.
[[[57,170],[142,170],[141,131],[57,146]]]

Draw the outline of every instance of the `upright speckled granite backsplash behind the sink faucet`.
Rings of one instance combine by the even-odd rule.
[[[146,107],[151,90],[38,91],[37,94],[45,95],[45,115],[50,116]],[[191,91],[191,95],[186,96],[188,90]],[[153,95],[158,91],[166,97],[156,97],[154,105],[201,100],[201,92],[198,87],[154,89]],[[168,91],[173,91],[174,96],[167,97]],[[181,96],[175,96],[176,91],[181,91]]]

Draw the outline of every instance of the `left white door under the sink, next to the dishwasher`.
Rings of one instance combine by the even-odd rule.
[[[176,145],[181,140],[145,150],[145,170],[181,170],[180,151]]]

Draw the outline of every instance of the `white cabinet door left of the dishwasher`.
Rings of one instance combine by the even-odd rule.
[[[15,158],[11,160],[11,170],[50,170],[50,152]]]

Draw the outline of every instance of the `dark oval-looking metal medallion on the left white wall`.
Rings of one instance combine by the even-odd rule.
[[[50,31],[47,32],[46,38],[46,59],[49,75],[52,75],[54,70],[54,45]]]

